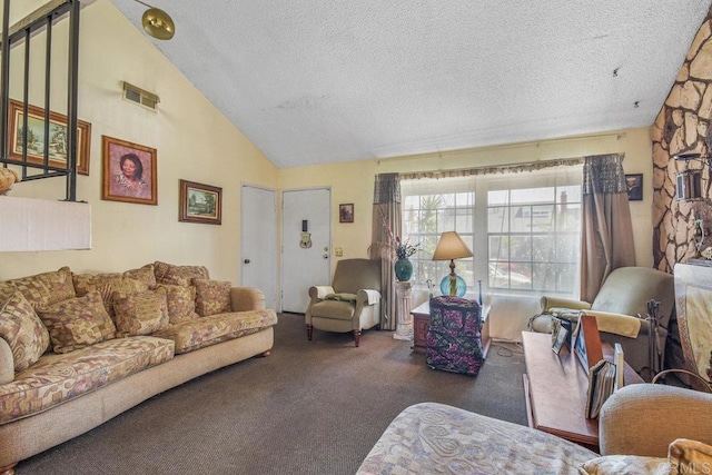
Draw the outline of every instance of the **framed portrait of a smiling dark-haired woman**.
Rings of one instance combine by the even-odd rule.
[[[158,205],[156,149],[101,136],[103,186],[101,199]]]

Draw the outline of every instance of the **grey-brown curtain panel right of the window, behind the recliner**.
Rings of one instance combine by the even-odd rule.
[[[585,157],[581,219],[581,299],[593,301],[617,267],[635,265],[623,155]]]

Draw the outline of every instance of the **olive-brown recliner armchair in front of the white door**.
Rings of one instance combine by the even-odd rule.
[[[314,328],[354,331],[358,346],[363,329],[380,325],[380,260],[339,260],[330,286],[309,288],[307,338],[312,340]]]

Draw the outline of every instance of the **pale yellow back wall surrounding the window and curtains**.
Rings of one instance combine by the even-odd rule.
[[[635,255],[639,266],[652,266],[652,162],[647,128],[627,129],[560,140],[457,150],[442,154],[360,160],[279,170],[284,189],[332,187],[332,247],[343,247],[344,258],[366,257],[370,244],[374,176],[385,172],[458,169],[517,164],[597,154],[625,154],[626,174],[643,174],[643,200],[631,201]],[[338,205],[354,202],[354,224],[338,222]],[[335,260],[333,259],[335,265]]]

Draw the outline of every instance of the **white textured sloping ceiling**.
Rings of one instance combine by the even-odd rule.
[[[113,0],[141,29],[146,7]],[[710,0],[151,0],[279,168],[650,126]],[[142,29],[141,29],[142,31]]]

